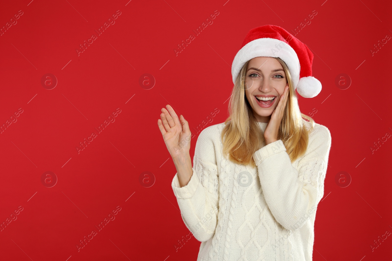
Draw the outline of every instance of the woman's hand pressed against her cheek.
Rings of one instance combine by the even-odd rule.
[[[276,106],[275,110],[272,112],[271,119],[269,120],[267,127],[265,128],[265,145],[268,145],[271,142],[278,140],[278,131],[283,118],[284,110],[286,108],[287,98],[289,97],[288,93],[289,86],[286,86],[283,95],[279,99],[278,106]]]

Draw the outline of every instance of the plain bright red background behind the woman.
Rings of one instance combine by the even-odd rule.
[[[299,97],[301,111],[332,135],[313,260],[390,257],[391,236],[370,247],[392,232],[392,40],[370,51],[392,36],[390,1],[30,1],[0,9],[0,27],[23,12],[0,36],[1,126],[23,110],[0,134],[0,222],[23,207],[0,232],[2,260],[196,260],[199,241],[178,243],[189,230],[171,188],[176,169],[158,128],[160,110],[171,104],[195,129],[225,121],[232,60],[247,32],[265,24],[312,49],[313,76],[323,85],[318,96]],[[117,10],[115,23],[78,56]],[[176,56],[215,10],[213,23]],[[58,81],[51,90],[41,84],[48,73]],[[350,80],[339,88],[342,73]],[[155,79],[149,90],[139,84],[143,74]],[[78,153],[117,108],[115,121]],[[53,187],[41,181],[46,171],[58,179]],[[142,185],[151,174],[139,181],[144,171],[155,177],[151,187]],[[351,177],[347,187],[335,182],[340,171]],[[115,219],[78,252],[117,206]]]

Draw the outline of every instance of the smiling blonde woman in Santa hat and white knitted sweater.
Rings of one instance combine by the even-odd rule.
[[[181,217],[201,241],[198,261],[312,260],[331,136],[299,110],[314,97],[313,54],[283,28],[250,30],[232,64],[229,117],[201,131],[193,168],[191,131],[171,106],[158,126],[177,173]],[[305,119],[309,121],[305,121]]]

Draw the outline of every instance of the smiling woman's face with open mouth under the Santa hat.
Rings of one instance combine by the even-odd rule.
[[[285,71],[273,57],[251,59],[245,73],[245,95],[253,115],[259,122],[268,122],[274,112],[285,87],[289,86]],[[256,97],[263,97],[261,101]],[[274,98],[273,100],[271,100]]]

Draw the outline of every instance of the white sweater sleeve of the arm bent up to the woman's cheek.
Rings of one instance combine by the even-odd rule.
[[[253,155],[267,205],[285,229],[296,230],[309,220],[324,195],[331,134],[318,125],[309,134],[308,148],[292,165],[282,140],[276,140]]]

